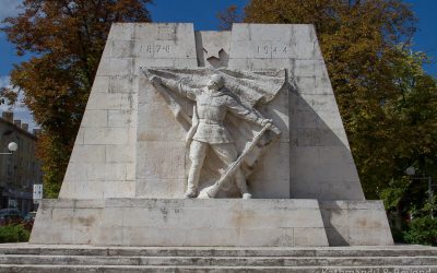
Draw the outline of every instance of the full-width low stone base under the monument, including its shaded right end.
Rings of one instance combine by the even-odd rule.
[[[43,200],[31,244],[302,247],[393,240],[379,201],[58,199]]]

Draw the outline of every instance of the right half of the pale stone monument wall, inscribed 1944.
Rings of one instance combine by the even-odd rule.
[[[228,67],[285,68],[290,72],[292,86],[284,105],[290,133],[282,135],[279,147],[286,153],[281,159],[288,161],[290,168],[277,168],[267,181],[255,181],[256,187],[265,185],[263,190],[273,190],[267,189],[270,181],[285,179],[291,198],[364,200],[312,25],[234,24]],[[273,161],[272,156],[277,152],[267,155],[264,162]]]

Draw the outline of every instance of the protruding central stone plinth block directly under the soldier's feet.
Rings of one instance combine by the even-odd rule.
[[[296,240],[295,226],[306,224],[307,238]],[[316,200],[108,200],[96,238],[122,246],[328,245]]]

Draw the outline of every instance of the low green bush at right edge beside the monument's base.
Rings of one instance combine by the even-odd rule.
[[[430,216],[414,218],[403,235],[409,244],[437,246],[437,218]]]

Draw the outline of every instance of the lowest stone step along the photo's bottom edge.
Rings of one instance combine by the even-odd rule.
[[[133,266],[133,265],[16,265],[0,264],[0,272],[8,273],[436,273],[437,265],[425,266]]]

